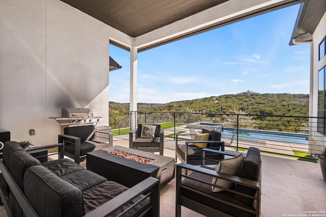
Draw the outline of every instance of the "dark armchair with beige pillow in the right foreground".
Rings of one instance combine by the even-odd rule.
[[[244,159],[241,153],[203,149],[204,155],[209,152],[233,158],[220,161],[217,169],[183,163],[176,166],[176,216],[181,216],[181,206],[184,206],[205,216],[258,217],[261,201],[259,149],[249,148]],[[230,168],[237,170],[231,174]]]

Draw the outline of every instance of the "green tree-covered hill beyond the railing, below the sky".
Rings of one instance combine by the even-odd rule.
[[[138,111],[227,114],[238,108],[252,115],[308,116],[309,94],[226,94],[164,104],[138,103]],[[109,102],[112,115],[128,115],[129,103]]]

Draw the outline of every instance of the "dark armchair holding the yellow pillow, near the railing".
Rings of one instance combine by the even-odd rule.
[[[214,150],[221,150],[224,151],[224,142],[221,141],[221,132],[210,130],[210,129],[202,129],[201,133],[208,133],[209,137],[206,141],[185,141],[182,139],[184,135],[191,135],[191,134],[176,134],[176,142],[175,142],[175,160],[179,158],[181,162],[185,162],[187,164],[192,165],[201,165],[201,153],[202,148],[195,146],[196,144],[207,144],[207,148],[214,149]],[[224,155],[218,153],[211,153],[207,158],[211,159],[223,159]]]

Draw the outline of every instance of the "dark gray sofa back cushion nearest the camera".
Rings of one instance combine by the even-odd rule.
[[[24,193],[40,216],[85,215],[82,191],[43,166],[26,170]]]

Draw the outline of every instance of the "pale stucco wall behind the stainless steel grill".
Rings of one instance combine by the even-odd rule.
[[[57,143],[61,126],[49,117],[62,107],[89,107],[107,126],[110,38],[132,41],[59,0],[0,0],[0,129]]]

